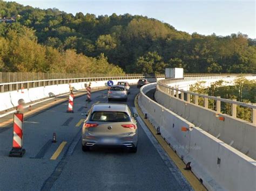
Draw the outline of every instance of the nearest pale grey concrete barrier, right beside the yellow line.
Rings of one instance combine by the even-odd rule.
[[[160,126],[161,136],[170,143],[179,157],[184,162],[191,161],[192,172],[203,181],[207,189],[256,190],[255,160],[151,100],[145,93],[153,88],[156,88],[156,83],[142,87],[139,107],[147,113],[149,120],[156,128]],[[158,101],[170,104],[170,97],[166,99],[165,95],[157,94]],[[174,102],[174,107],[183,112],[181,115],[190,112],[185,104],[178,104],[176,100]],[[193,111],[191,116],[197,117],[200,114]],[[180,126],[183,125],[190,130],[181,131]]]

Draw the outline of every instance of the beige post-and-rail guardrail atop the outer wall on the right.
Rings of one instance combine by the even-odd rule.
[[[237,105],[240,105],[241,107],[250,108],[252,110],[252,117],[251,117],[251,123],[256,125],[256,105],[248,104],[248,103],[242,103],[235,100],[228,100],[221,98],[220,96],[214,97],[214,96],[208,96],[203,94],[197,94],[193,93],[191,91],[184,91],[182,89],[176,88],[176,87],[170,87],[167,86],[167,84],[170,83],[177,83],[177,82],[184,82],[184,81],[194,81],[194,80],[209,80],[209,79],[228,79],[230,77],[239,77],[239,76],[256,76],[256,74],[223,74],[219,76],[186,76],[184,79],[165,79],[165,80],[159,80],[157,82],[157,87],[164,91],[165,93],[169,94],[172,97],[180,98],[183,101],[186,101],[188,103],[191,102],[191,96],[193,96],[194,104],[199,105],[199,98],[203,98],[204,100],[204,108],[208,108],[208,100],[214,100],[215,102],[215,111],[217,111],[219,114],[221,114],[221,102],[231,104],[231,116],[237,118]],[[179,95],[181,95],[179,97]],[[186,97],[184,97],[186,95]]]

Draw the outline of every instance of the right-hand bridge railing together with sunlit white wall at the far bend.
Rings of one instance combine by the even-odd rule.
[[[170,97],[177,97],[182,101],[186,101],[188,103],[193,100],[193,103],[196,105],[199,105],[200,98],[203,98],[203,106],[204,108],[208,108],[208,102],[209,100],[213,100],[214,102],[214,109],[219,114],[221,114],[221,104],[230,104],[231,106],[231,116],[234,118],[237,118],[237,105],[240,105],[241,107],[250,108],[252,112],[251,117],[251,123],[256,125],[256,105],[250,104],[250,103],[243,103],[236,100],[228,100],[221,97],[214,97],[214,96],[208,96],[198,93],[193,93],[189,91],[190,85],[193,83],[196,83],[197,81],[208,81],[206,83],[206,86],[210,86],[211,82],[217,81],[217,80],[226,80],[230,81],[228,84],[232,84],[233,80],[237,77],[246,77],[247,79],[256,80],[255,74],[222,74],[222,75],[201,75],[201,76],[185,76],[184,79],[164,79],[159,80],[157,82],[157,88],[161,91],[164,91],[165,93],[169,94]]]

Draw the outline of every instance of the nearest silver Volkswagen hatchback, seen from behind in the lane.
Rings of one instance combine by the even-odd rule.
[[[126,104],[93,104],[86,116],[82,128],[83,151],[93,146],[119,146],[137,152],[138,130],[134,117],[138,115],[132,115]]]

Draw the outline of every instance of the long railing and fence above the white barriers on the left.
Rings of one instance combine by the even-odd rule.
[[[62,73],[0,73],[0,93],[66,83],[103,80],[160,78],[164,74],[62,74]]]

